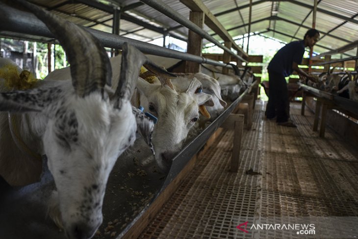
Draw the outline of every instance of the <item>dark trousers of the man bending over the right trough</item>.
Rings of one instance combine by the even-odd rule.
[[[287,82],[280,73],[269,71],[269,101],[266,106],[266,117],[276,121],[286,122],[289,117],[289,100]]]

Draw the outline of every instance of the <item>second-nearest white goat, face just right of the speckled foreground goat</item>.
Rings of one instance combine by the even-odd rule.
[[[110,59],[112,65],[112,87],[116,87],[117,76],[121,72],[121,55]],[[152,70],[153,71],[153,70]],[[60,78],[68,75],[68,68],[56,70],[47,78]],[[154,74],[157,76],[158,74]],[[173,77],[171,77],[173,78]],[[154,126],[152,143],[155,150],[155,161],[161,171],[167,171],[171,160],[180,150],[190,128],[199,119],[199,107],[213,106],[213,97],[206,93],[195,93],[202,84],[195,78],[190,78],[185,89],[177,90],[171,80],[158,76],[153,84],[142,78],[137,79],[140,105],[158,118]],[[135,105],[136,102],[133,102]],[[136,105],[137,106],[137,105]]]

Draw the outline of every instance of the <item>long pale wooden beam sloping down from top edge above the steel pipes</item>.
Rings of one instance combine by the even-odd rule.
[[[205,24],[210,27],[215,33],[217,33],[224,41],[230,41],[232,48],[242,53],[243,56],[248,57],[248,54],[244,52],[242,48],[236,45],[229,32],[218,21],[218,19],[211,13],[209,8],[201,0],[180,0],[181,3],[186,5],[192,11],[202,11],[205,13]]]

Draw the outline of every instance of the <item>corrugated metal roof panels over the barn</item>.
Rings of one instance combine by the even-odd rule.
[[[76,0],[32,0],[32,2],[47,7],[69,21],[105,32],[112,32],[113,23],[112,13],[106,10],[113,9],[116,5],[125,7],[132,3],[138,3],[137,0],[79,1],[82,3],[78,3]],[[162,0],[162,2],[183,17],[189,18],[189,9],[179,0]],[[249,7],[247,7],[249,2],[249,0],[203,0],[210,11],[214,15],[218,15],[219,22],[229,30],[233,38],[244,35],[249,29],[247,25],[249,23]],[[100,10],[96,6],[103,6],[103,8]],[[237,9],[237,7],[240,9]],[[273,8],[277,8],[274,9],[278,11],[276,14],[272,14]],[[312,26],[312,9],[312,0],[253,0],[252,22],[254,24],[251,25],[251,32],[262,32],[269,29],[268,32],[263,34],[275,37],[283,42],[290,42],[296,40],[296,38],[301,39],[307,28]],[[222,14],[223,12],[227,13]],[[338,14],[338,16],[329,15],[327,12]],[[163,29],[180,26],[176,21],[146,4],[130,9],[126,13],[140,21]],[[267,18],[272,15],[277,15],[281,19],[269,21]],[[358,15],[357,0],[319,0],[316,28],[322,32],[322,39],[315,46],[314,51],[323,53],[358,40],[358,16],[356,15]],[[350,19],[356,22],[350,22]],[[349,21],[347,22],[347,20]],[[301,24],[302,27],[300,27]],[[335,27],[337,28],[334,29]],[[145,42],[163,36],[162,32],[145,29],[143,26],[123,19],[120,22],[120,29],[121,35]],[[206,25],[204,29],[209,34],[214,34]],[[188,29],[181,26],[170,32],[187,36]],[[326,33],[329,33],[329,35],[326,35]],[[221,40],[218,35],[214,35],[214,37]],[[208,43],[208,41],[204,40],[204,43]],[[353,49],[346,53],[357,55],[357,50]]]

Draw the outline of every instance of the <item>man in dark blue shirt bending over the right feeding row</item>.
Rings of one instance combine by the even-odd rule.
[[[309,29],[303,40],[288,43],[282,47],[270,61],[267,70],[269,74],[269,100],[266,107],[267,119],[276,118],[278,125],[296,127],[289,120],[289,99],[285,77],[296,71],[303,79],[312,79],[298,67],[303,59],[306,47],[313,47],[319,39],[316,29]]]

